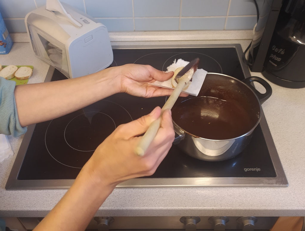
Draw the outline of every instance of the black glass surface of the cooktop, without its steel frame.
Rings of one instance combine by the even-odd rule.
[[[249,71],[243,70],[235,47],[114,49],[113,55],[112,66],[149,64],[165,71],[174,59],[190,61],[199,57],[198,68],[208,72],[227,74],[239,80],[249,75],[245,74]],[[65,78],[55,69],[51,81]],[[165,97],[138,98],[119,93],[66,116],[36,124],[16,180],[75,179],[95,148],[118,125],[148,114],[156,106],[162,107],[164,102]],[[276,176],[259,125],[250,144],[234,158],[221,162],[201,161],[173,145],[155,174],[145,178]]]

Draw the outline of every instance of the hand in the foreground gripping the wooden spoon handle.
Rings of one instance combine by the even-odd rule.
[[[152,121],[159,118],[161,108],[156,107],[149,115],[117,127],[100,144],[82,171],[86,171],[96,185],[115,187],[127,179],[152,175],[167,155],[174,141],[174,129],[170,110],[162,114],[161,126],[144,156],[135,154],[140,141]]]

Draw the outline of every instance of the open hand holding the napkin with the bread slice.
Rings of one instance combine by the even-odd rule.
[[[172,89],[149,85],[156,80],[165,81],[170,79],[174,74],[173,71],[165,73],[150,65],[139,64],[126,64],[115,68],[118,72],[117,81],[120,92],[150,98],[170,95],[173,91]],[[188,94],[181,93],[180,96],[188,96]]]

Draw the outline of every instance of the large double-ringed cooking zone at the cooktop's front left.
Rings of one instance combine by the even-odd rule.
[[[124,107],[101,100],[98,105],[53,119],[45,132],[45,147],[60,164],[81,169],[117,126],[130,121],[131,115]]]

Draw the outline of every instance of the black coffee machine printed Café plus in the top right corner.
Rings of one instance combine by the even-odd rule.
[[[305,0],[264,1],[248,64],[275,84],[305,87]]]

